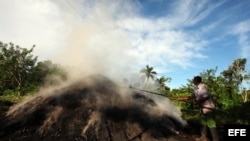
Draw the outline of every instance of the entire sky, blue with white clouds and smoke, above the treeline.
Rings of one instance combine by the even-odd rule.
[[[0,0],[0,40],[131,81],[149,64],[178,88],[237,58],[250,69],[249,9],[250,0]]]

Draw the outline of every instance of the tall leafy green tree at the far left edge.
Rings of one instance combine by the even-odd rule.
[[[26,78],[31,75],[31,70],[36,64],[37,57],[31,53],[31,49],[21,48],[13,43],[4,44],[0,41],[0,84],[7,89],[20,90],[25,84]]]

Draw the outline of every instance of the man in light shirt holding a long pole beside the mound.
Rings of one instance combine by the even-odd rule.
[[[195,76],[193,79],[193,84],[195,85],[194,91],[191,96],[178,98],[177,101],[194,100],[195,104],[200,107],[200,118],[201,118],[201,137],[197,138],[197,141],[207,141],[207,127],[210,130],[213,141],[218,141],[218,133],[216,131],[216,123],[213,118],[214,114],[214,102],[209,92],[209,88],[206,84],[202,83],[202,78],[200,76]]]

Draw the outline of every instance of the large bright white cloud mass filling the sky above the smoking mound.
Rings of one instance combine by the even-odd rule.
[[[1,0],[0,39],[22,47],[36,44],[42,60],[53,59],[120,77],[145,63],[189,67],[206,41],[183,28],[204,19],[216,6],[181,1],[173,16],[148,19],[134,1]],[[143,7],[142,7],[143,8]],[[139,71],[139,70],[133,70]]]

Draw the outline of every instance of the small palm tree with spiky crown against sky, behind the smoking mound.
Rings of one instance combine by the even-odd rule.
[[[156,77],[156,75],[157,75],[157,73],[156,73],[156,71],[154,71],[153,67],[150,67],[148,65],[146,65],[146,68],[141,69],[140,72],[143,74],[142,78],[146,82],[145,88],[147,88],[149,80],[150,79],[154,80],[155,77]]]

